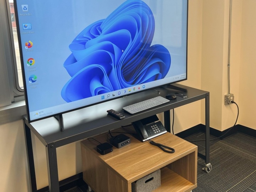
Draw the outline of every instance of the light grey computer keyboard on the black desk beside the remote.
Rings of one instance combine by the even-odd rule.
[[[130,114],[135,114],[135,113],[139,113],[141,111],[145,111],[150,108],[153,108],[153,107],[156,107],[156,106],[168,103],[168,102],[170,102],[170,100],[168,100],[164,97],[158,96],[158,97],[154,97],[154,98],[151,98],[151,99],[139,102],[139,103],[134,103],[132,105],[123,107],[123,110]]]

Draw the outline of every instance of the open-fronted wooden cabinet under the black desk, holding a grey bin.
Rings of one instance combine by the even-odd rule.
[[[129,134],[131,143],[101,155],[93,139],[81,142],[83,178],[95,192],[131,192],[132,182],[161,169],[161,186],[155,192],[191,191],[197,187],[197,146],[167,132],[153,140],[175,149],[165,153]],[[94,137],[101,143],[107,134]]]

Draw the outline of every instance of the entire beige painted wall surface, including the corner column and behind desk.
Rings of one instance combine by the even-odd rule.
[[[231,31],[231,93],[240,109],[239,124],[256,129],[256,1],[233,0]],[[190,0],[188,80],[181,84],[210,91],[210,126],[233,126],[234,104],[225,106],[228,93],[227,53],[229,0]],[[172,114],[171,114],[172,116]],[[175,109],[174,132],[204,123],[204,102]],[[44,145],[33,135],[37,186],[48,185]],[[57,149],[59,180],[82,171],[80,143]],[[0,125],[0,191],[27,192],[28,167],[22,121]],[[8,190],[7,190],[8,188]]]

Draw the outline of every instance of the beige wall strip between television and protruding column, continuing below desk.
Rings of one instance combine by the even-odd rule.
[[[201,89],[202,0],[188,5],[188,80],[182,85]],[[206,90],[208,91],[208,90]],[[201,101],[174,109],[174,134],[201,123]],[[172,119],[172,111],[171,111]]]

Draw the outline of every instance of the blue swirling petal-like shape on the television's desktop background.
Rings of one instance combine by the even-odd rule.
[[[163,79],[169,51],[152,45],[155,21],[141,0],[127,0],[105,19],[91,23],[70,43],[64,62],[70,75],[61,91],[66,102]]]

